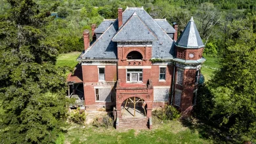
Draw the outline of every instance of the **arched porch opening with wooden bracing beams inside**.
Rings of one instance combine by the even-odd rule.
[[[142,98],[131,97],[121,103],[121,117],[146,117],[146,102]]]

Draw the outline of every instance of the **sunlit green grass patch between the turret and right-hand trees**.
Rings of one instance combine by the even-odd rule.
[[[209,81],[213,77],[214,72],[220,68],[218,58],[211,58],[204,56],[206,61],[203,63],[201,72],[205,78],[205,82]]]

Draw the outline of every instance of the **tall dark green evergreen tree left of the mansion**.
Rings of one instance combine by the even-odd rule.
[[[54,17],[32,0],[8,2],[0,16],[0,143],[53,143],[66,120],[66,70],[54,66],[58,45],[45,40]]]

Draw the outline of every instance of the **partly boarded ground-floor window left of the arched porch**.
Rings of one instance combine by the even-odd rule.
[[[95,98],[96,98],[96,101],[111,101],[110,88],[96,88]]]

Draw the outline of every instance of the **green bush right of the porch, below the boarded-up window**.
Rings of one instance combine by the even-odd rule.
[[[156,109],[152,114],[161,120],[175,120],[181,117],[179,111],[172,105],[165,105],[161,109]]]

